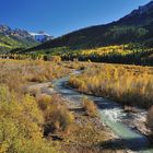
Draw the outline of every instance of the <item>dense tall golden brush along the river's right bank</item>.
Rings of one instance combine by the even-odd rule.
[[[69,83],[80,92],[113,98],[126,105],[153,105],[153,68],[97,64]]]

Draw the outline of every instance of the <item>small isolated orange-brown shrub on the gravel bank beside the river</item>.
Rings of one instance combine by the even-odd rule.
[[[97,107],[93,101],[89,99],[87,97],[83,98],[83,108],[85,109],[86,115],[91,117],[97,116]]]

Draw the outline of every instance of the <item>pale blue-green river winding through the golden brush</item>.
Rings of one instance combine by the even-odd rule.
[[[55,90],[60,93],[64,98],[78,103],[84,96],[72,89],[67,89],[63,84],[67,83],[69,76],[54,81]],[[137,153],[153,153],[153,149],[149,148],[149,140],[146,137],[138,132],[132,125],[125,123],[131,121],[133,116],[129,116],[125,113],[119,104],[111,101],[105,99],[103,97],[85,95],[98,106],[99,117],[107,125],[119,140],[115,140],[114,144],[121,141],[126,150],[130,150]],[[141,110],[137,114],[138,117],[145,116],[145,111]],[[118,146],[119,148],[119,146]]]

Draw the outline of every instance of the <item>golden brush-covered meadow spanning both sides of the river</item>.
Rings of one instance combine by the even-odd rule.
[[[61,95],[50,95],[47,89],[37,84],[50,82],[49,87],[52,87],[55,79],[73,70],[83,70],[81,74],[70,76],[69,85],[123,105],[149,108],[153,104],[153,68],[57,59],[0,59],[0,152],[118,152],[101,145],[114,137],[99,121],[97,107],[92,101],[84,97],[78,108],[80,111],[72,111]],[[148,117],[152,128],[151,116],[152,109]]]

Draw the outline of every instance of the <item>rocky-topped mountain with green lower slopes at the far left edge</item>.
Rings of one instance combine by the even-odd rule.
[[[38,45],[33,36],[24,30],[12,30],[7,25],[0,25],[0,52],[12,49],[30,48]]]

